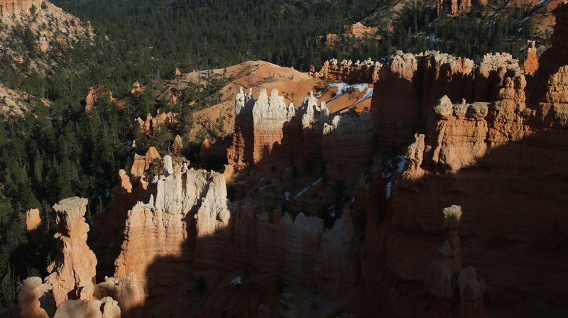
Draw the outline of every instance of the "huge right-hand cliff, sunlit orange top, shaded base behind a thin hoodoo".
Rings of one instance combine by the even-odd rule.
[[[484,278],[494,312],[531,317],[538,302],[550,305],[547,317],[561,311],[552,304],[567,296],[557,282],[568,281],[568,67],[550,76],[543,102],[528,104],[523,72],[500,62],[496,101],[443,97],[433,107],[435,125],[408,148],[386,221],[369,223],[366,290],[390,316],[432,306],[423,283],[441,242],[439,211],[452,204],[463,209],[461,260]]]

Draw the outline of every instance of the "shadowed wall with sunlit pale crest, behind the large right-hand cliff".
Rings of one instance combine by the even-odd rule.
[[[383,67],[373,89],[371,114],[378,145],[398,149],[412,142],[417,131],[432,128],[436,119],[431,109],[444,95],[462,104],[496,100],[504,79],[517,71],[518,60],[504,53],[486,55],[474,69],[473,61],[461,57],[399,51]]]

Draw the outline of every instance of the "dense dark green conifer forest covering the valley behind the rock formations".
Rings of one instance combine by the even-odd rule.
[[[490,1],[456,18],[437,15],[431,2],[409,2],[400,14],[387,11],[390,0],[258,1],[258,0],[55,0],[96,34],[85,34],[70,48],[55,45],[55,54],[35,48],[30,28],[8,29],[5,45],[24,56],[22,64],[0,56],[0,83],[28,93],[23,115],[0,114],[0,300],[11,302],[15,286],[28,275],[45,276],[52,261],[55,215],[51,206],[72,196],[87,197],[92,214],[109,209],[120,169],[129,171],[133,136],[129,124],[137,116],[155,115],[167,102],[153,89],[131,95],[133,82],[148,84],[182,72],[209,70],[246,60],[266,60],[307,71],[332,57],[381,60],[395,50],[419,53],[440,50],[481,61],[489,52],[509,52],[522,60],[523,45],[537,35],[530,7],[495,16],[503,1]],[[384,13],[384,14],[383,14]],[[378,26],[380,37],[343,38],[324,43],[328,33],[344,33],[345,26],[366,20]],[[528,18],[527,18],[528,17]],[[526,18],[526,19],[525,19]],[[45,62],[43,72],[31,60]],[[102,97],[85,113],[89,87],[100,84],[115,97],[126,97],[119,109]],[[187,100],[200,92],[186,92]],[[214,94],[207,91],[206,94]],[[202,98],[202,97],[200,97]],[[47,102],[44,102],[47,101]],[[2,101],[0,101],[2,102]],[[192,109],[182,131],[191,128]],[[173,132],[175,133],[175,132]],[[173,135],[175,136],[175,135]],[[163,149],[171,136],[139,143]],[[185,141],[186,151],[195,151]],[[195,155],[188,153],[187,155]],[[40,209],[50,220],[49,233],[38,243],[28,241],[26,211]]]

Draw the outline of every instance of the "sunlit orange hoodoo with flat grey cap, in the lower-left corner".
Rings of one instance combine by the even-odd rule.
[[[57,213],[58,255],[48,267],[48,283],[53,286],[56,306],[65,300],[77,299],[77,290],[94,284],[97,258],[87,246],[89,225],[83,217],[87,203],[87,199],[72,197],[53,206]]]

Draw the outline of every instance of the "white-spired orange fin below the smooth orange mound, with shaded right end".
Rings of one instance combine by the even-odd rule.
[[[373,152],[373,121],[368,113],[358,118],[344,114],[332,116],[312,92],[295,109],[285,106],[283,97],[273,89],[271,97],[261,89],[258,100],[246,97],[242,89],[235,101],[236,124],[229,163],[268,165],[292,155],[310,160],[323,158],[329,172],[337,175],[344,169],[363,164]],[[353,151],[338,153],[347,147]]]

